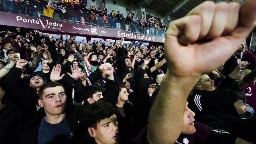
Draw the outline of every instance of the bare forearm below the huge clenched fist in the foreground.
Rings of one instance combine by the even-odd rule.
[[[187,96],[198,79],[167,72],[148,118],[147,138],[151,144],[175,143],[181,134]]]

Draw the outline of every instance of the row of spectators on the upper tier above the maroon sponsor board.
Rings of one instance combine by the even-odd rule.
[[[2,11],[27,14],[29,16],[53,18],[55,20],[65,20],[81,24],[92,24],[95,26],[103,26],[107,28],[115,28],[118,30],[127,30],[132,32],[140,32],[145,34],[151,34],[163,37],[167,28],[167,24],[158,23],[150,20],[138,20],[134,15],[128,14],[126,17],[120,11],[115,13],[115,10],[108,13],[107,9],[95,8],[95,6],[89,6],[83,4],[83,1],[73,0],[71,2],[65,2],[61,0],[51,1],[55,6],[62,6],[66,12],[62,12],[61,9],[54,10],[47,4],[49,0],[27,0],[26,2],[21,0],[3,0]],[[25,10],[26,9],[26,10]],[[45,11],[45,12],[44,12]]]

